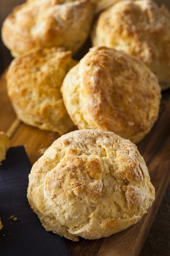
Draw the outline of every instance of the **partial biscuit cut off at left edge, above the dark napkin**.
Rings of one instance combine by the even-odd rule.
[[[6,159],[6,151],[9,147],[10,140],[8,139],[8,136],[3,131],[0,131],[0,164]]]

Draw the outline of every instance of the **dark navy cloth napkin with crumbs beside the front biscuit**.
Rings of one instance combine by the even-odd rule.
[[[3,224],[0,255],[69,256],[64,239],[45,231],[28,204],[30,170],[25,148],[10,148],[0,166],[0,218]],[[8,220],[11,215],[15,215],[17,221]]]

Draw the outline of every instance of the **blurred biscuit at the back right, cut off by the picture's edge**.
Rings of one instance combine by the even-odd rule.
[[[103,12],[92,32],[94,46],[123,50],[144,61],[170,87],[170,13],[151,0],[125,0]],[[165,89],[162,87],[162,89]]]

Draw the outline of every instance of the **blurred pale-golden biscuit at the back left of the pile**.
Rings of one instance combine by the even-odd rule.
[[[35,47],[77,52],[93,20],[89,0],[31,0],[14,8],[3,23],[4,44],[16,57]]]

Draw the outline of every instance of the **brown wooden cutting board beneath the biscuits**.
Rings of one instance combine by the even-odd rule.
[[[5,74],[0,79],[0,131],[7,132],[12,146],[25,145],[32,164],[59,137],[58,134],[24,125],[16,118],[6,92]],[[138,148],[156,188],[153,206],[137,224],[108,238],[80,239],[79,242],[65,239],[71,256],[139,255],[170,181],[170,90],[163,93],[159,120]]]

